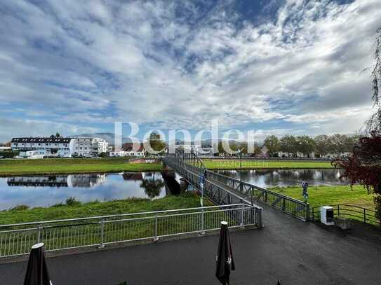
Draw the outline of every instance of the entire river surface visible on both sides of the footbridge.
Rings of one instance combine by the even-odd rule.
[[[245,170],[242,180],[256,186],[342,184],[340,169]],[[220,173],[239,179],[239,171]],[[120,174],[70,174],[0,178],[0,210],[26,204],[46,207],[76,197],[81,202],[121,200],[127,197],[157,199],[180,193],[180,176],[173,171]]]

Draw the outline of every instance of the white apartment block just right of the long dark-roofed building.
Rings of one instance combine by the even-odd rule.
[[[76,137],[70,140],[70,153],[76,156],[92,157],[106,153],[109,143],[97,137]]]

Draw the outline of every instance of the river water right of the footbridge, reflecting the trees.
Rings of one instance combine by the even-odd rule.
[[[239,171],[236,170],[224,170],[218,173],[239,179]],[[342,169],[243,170],[242,181],[264,188],[299,186],[304,180],[309,185],[347,184],[346,181],[340,181],[341,174]]]

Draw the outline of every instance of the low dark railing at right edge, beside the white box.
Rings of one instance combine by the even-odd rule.
[[[311,209],[312,221],[320,221],[320,207]],[[374,210],[350,204],[334,204],[330,205],[330,207],[333,207],[334,216],[350,218],[359,223],[381,226],[381,221],[377,219]]]

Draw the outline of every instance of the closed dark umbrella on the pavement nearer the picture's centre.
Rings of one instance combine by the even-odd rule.
[[[230,271],[235,270],[235,265],[227,222],[221,222],[220,242],[218,242],[216,263],[215,277],[217,277],[221,284],[229,285]]]

